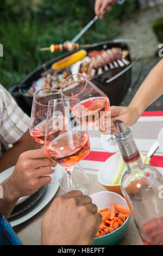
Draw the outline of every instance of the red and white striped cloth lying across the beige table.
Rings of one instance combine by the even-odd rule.
[[[130,126],[139,151],[147,154],[152,144],[158,138],[159,131],[163,127],[163,111],[144,112],[136,124]],[[90,154],[80,161],[81,166],[87,173],[97,174],[103,162],[115,153],[106,152],[101,145],[101,133],[89,131],[91,151]],[[151,157],[155,167],[163,167],[163,152],[157,149]],[[160,172],[161,169],[159,168]],[[163,174],[163,173],[162,173]]]

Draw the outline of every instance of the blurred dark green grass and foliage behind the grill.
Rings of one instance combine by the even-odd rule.
[[[94,0],[0,1],[0,82],[7,89],[60,52],[41,52],[41,47],[71,40],[95,16]],[[120,23],[139,8],[137,1],[114,5],[79,39],[79,44],[114,39]]]

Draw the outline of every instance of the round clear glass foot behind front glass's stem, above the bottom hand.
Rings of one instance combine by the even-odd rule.
[[[67,175],[65,173],[64,177],[59,181],[60,188],[62,192],[65,194],[68,192],[68,180]],[[86,195],[91,186],[91,181],[89,176],[84,172],[83,168],[80,164],[76,164],[74,166],[72,172],[72,190],[80,190],[84,195]]]

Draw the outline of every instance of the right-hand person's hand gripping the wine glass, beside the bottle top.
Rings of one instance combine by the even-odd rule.
[[[111,111],[111,134],[115,132],[113,120],[118,119],[123,121],[126,126],[131,126],[135,124],[140,117],[140,114],[133,106],[111,106],[109,111]]]

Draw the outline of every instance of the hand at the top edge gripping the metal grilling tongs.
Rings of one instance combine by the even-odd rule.
[[[96,0],[95,2],[95,14],[103,19],[105,13],[111,11],[111,6],[116,3],[116,0]]]

